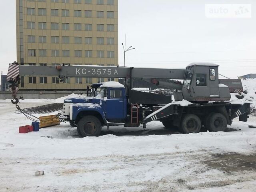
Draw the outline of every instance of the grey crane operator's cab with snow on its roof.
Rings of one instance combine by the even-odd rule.
[[[186,67],[182,91],[174,92],[175,100],[195,102],[230,100],[228,86],[219,83],[218,65],[192,63]]]

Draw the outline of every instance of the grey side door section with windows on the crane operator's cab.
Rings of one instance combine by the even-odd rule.
[[[192,82],[192,97],[194,100],[207,101],[219,97],[218,67],[196,66]],[[205,98],[202,99],[201,98]]]

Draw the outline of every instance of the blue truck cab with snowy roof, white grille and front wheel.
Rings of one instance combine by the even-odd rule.
[[[101,127],[111,123],[124,123],[127,117],[127,98],[124,85],[105,82],[95,97],[64,100],[61,120],[77,126],[80,136],[96,136]]]

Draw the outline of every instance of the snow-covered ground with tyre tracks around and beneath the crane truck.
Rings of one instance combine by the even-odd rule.
[[[255,81],[242,82],[248,94],[241,101],[255,106]],[[63,100],[22,100],[20,107]],[[104,127],[99,137],[79,138],[68,123],[19,134],[31,121],[15,110],[0,100],[0,192],[256,191],[256,128],[248,128],[256,116],[235,119],[227,132],[179,134],[151,122],[146,130]]]

